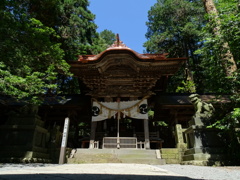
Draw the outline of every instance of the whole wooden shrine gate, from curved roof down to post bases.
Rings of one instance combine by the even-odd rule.
[[[148,98],[164,92],[186,58],[139,54],[117,40],[98,55],[80,55],[70,71],[92,98],[89,148],[150,148]],[[158,143],[161,146],[161,143]]]

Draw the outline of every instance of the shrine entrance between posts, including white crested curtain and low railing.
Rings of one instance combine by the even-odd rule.
[[[120,98],[117,98],[117,102],[93,100],[89,148],[98,148],[100,142],[102,148],[138,148],[138,144],[141,144],[139,148],[149,149],[147,109],[147,97],[132,101],[120,101]],[[144,128],[144,141],[138,141],[132,119],[138,122],[143,120],[143,124],[138,124],[142,124]],[[97,123],[102,125],[99,126]],[[103,132],[96,136],[97,127],[98,129],[101,127]],[[101,134],[104,136],[102,137]],[[96,141],[96,137],[100,139]]]

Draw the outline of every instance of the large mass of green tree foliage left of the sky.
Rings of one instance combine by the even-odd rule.
[[[0,94],[39,104],[47,93],[79,93],[65,60],[99,47],[87,0],[0,2]]]

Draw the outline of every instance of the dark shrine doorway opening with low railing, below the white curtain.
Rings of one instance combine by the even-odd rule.
[[[119,131],[118,131],[119,129]],[[118,139],[119,132],[119,139]],[[107,119],[97,123],[95,141],[99,148],[144,148],[144,120],[121,118]],[[119,143],[118,143],[119,141]]]

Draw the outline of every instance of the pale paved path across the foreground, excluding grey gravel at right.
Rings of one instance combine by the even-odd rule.
[[[0,180],[190,180],[146,164],[0,164]]]

